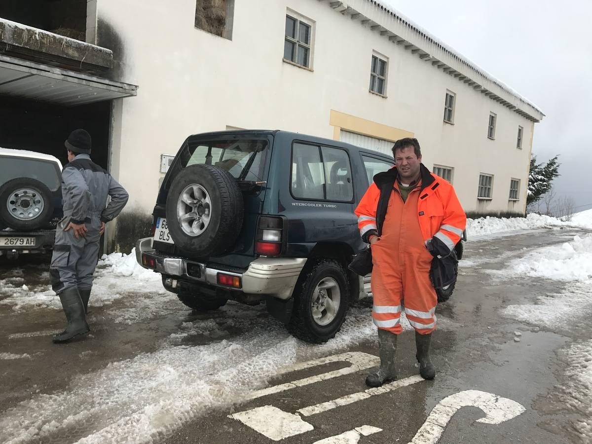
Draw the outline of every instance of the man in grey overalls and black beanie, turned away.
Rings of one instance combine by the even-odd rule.
[[[92,162],[90,134],[74,130],[65,145],[70,163],[62,170],[64,217],[56,227],[50,277],[66,313],[67,326],[53,337],[53,342],[66,342],[90,331],[86,310],[99,240],[105,223],[121,213],[128,198],[123,186]]]

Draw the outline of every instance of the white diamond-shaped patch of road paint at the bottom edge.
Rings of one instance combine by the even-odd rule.
[[[300,416],[274,406],[252,408],[251,410],[234,413],[229,417],[239,420],[274,441],[300,435],[300,433],[314,429],[312,424],[308,424]]]

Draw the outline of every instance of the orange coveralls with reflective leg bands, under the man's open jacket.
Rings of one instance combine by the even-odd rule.
[[[392,191],[379,240],[372,249],[372,318],[379,329],[403,332],[401,304],[407,320],[420,334],[436,329],[436,292],[430,281],[432,255],[427,250],[417,220],[419,186],[407,200]]]

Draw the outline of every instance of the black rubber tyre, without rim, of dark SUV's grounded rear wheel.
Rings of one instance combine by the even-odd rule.
[[[294,310],[288,331],[305,342],[327,342],[341,329],[349,305],[349,284],[343,266],[336,260],[318,259],[307,264],[294,289]],[[339,307],[333,320],[320,325],[313,317],[314,291],[323,279],[333,279],[339,286]]]

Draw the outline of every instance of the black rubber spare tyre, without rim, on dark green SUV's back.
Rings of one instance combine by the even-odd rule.
[[[197,207],[182,204],[181,195],[191,185],[204,189],[210,204],[197,204]],[[184,230],[178,217],[178,205],[184,205],[182,212],[194,208],[193,211],[202,212],[200,217],[209,215],[200,233],[190,235]],[[170,236],[183,252],[200,257],[221,255],[232,249],[243,225],[243,194],[229,172],[212,165],[190,165],[173,180],[166,200],[166,220]],[[202,223],[201,219],[195,221]]]

